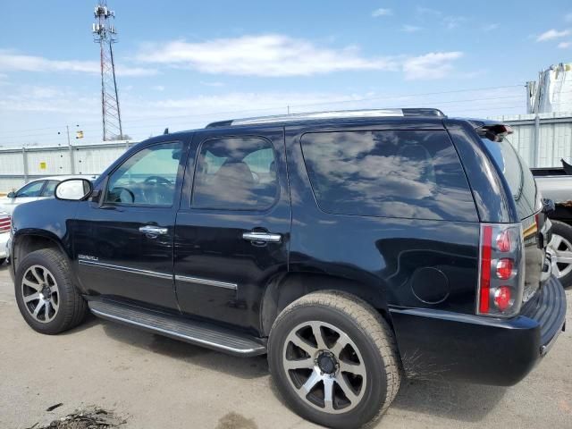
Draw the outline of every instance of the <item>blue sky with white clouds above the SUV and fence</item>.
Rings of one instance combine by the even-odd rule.
[[[101,141],[96,4],[3,2],[0,146],[67,145],[66,125]],[[124,133],[359,108],[525,114],[526,81],[572,62],[572,4],[471,5],[109,0]]]

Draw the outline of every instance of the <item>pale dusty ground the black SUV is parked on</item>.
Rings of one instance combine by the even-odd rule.
[[[265,357],[229,357],[95,317],[62,335],[32,331],[5,266],[0,320],[0,428],[49,425],[90,407],[114,412],[122,428],[317,427],[284,407]],[[572,329],[511,388],[406,381],[377,427],[572,428]]]

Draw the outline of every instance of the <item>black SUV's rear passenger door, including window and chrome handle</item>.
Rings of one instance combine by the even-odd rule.
[[[195,135],[175,228],[181,311],[259,328],[265,286],[288,268],[283,130]]]

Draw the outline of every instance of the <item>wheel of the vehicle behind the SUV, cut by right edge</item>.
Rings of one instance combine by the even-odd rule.
[[[551,254],[552,273],[565,288],[572,286],[572,226],[560,221],[551,221],[552,239],[548,244]]]

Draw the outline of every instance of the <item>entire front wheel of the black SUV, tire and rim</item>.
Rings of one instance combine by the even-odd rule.
[[[67,331],[80,324],[88,311],[71,282],[67,259],[53,249],[37,250],[21,260],[14,290],[21,315],[41,333]]]

